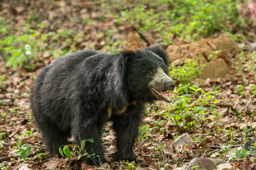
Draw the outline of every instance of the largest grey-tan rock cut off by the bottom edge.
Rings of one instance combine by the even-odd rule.
[[[191,169],[206,169],[213,170],[216,165],[210,161],[210,159],[206,158],[194,158],[188,164],[185,164],[182,170],[191,170]]]

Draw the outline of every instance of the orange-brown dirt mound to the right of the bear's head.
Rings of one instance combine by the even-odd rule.
[[[166,52],[169,62],[190,58],[198,60],[200,64],[206,64],[201,77],[215,79],[233,73],[230,56],[239,54],[241,50],[230,38],[215,38],[191,43],[176,42],[169,45]]]

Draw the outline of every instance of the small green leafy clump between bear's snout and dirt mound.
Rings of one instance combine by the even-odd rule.
[[[196,60],[185,60],[183,66],[176,66],[172,63],[170,67],[169,75],[172,79],[180,81],[181,84],[188,84],[202,73],[204,64],[198,64]]]

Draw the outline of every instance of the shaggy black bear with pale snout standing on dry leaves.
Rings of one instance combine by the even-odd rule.
[[[117,135],[114,159],[134,160],[132,151],[145,103],[171,101],[174,81],[168,76],[166,52],[154,45],[135,52],[75,52],[43,69],[31,89],[31,109],[50,153],[68,145],[73,135],[86,142],[87,164],[105,162],[102,126],[113,121]]]

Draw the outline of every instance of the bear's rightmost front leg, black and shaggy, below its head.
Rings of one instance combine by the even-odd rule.
[[[122,115],[113,115],[113,128],[117,134],[117,152],[114,160],[135,160],[137,157],[132,151],[138,134],[144,105],[137,103],[127,108]]]

